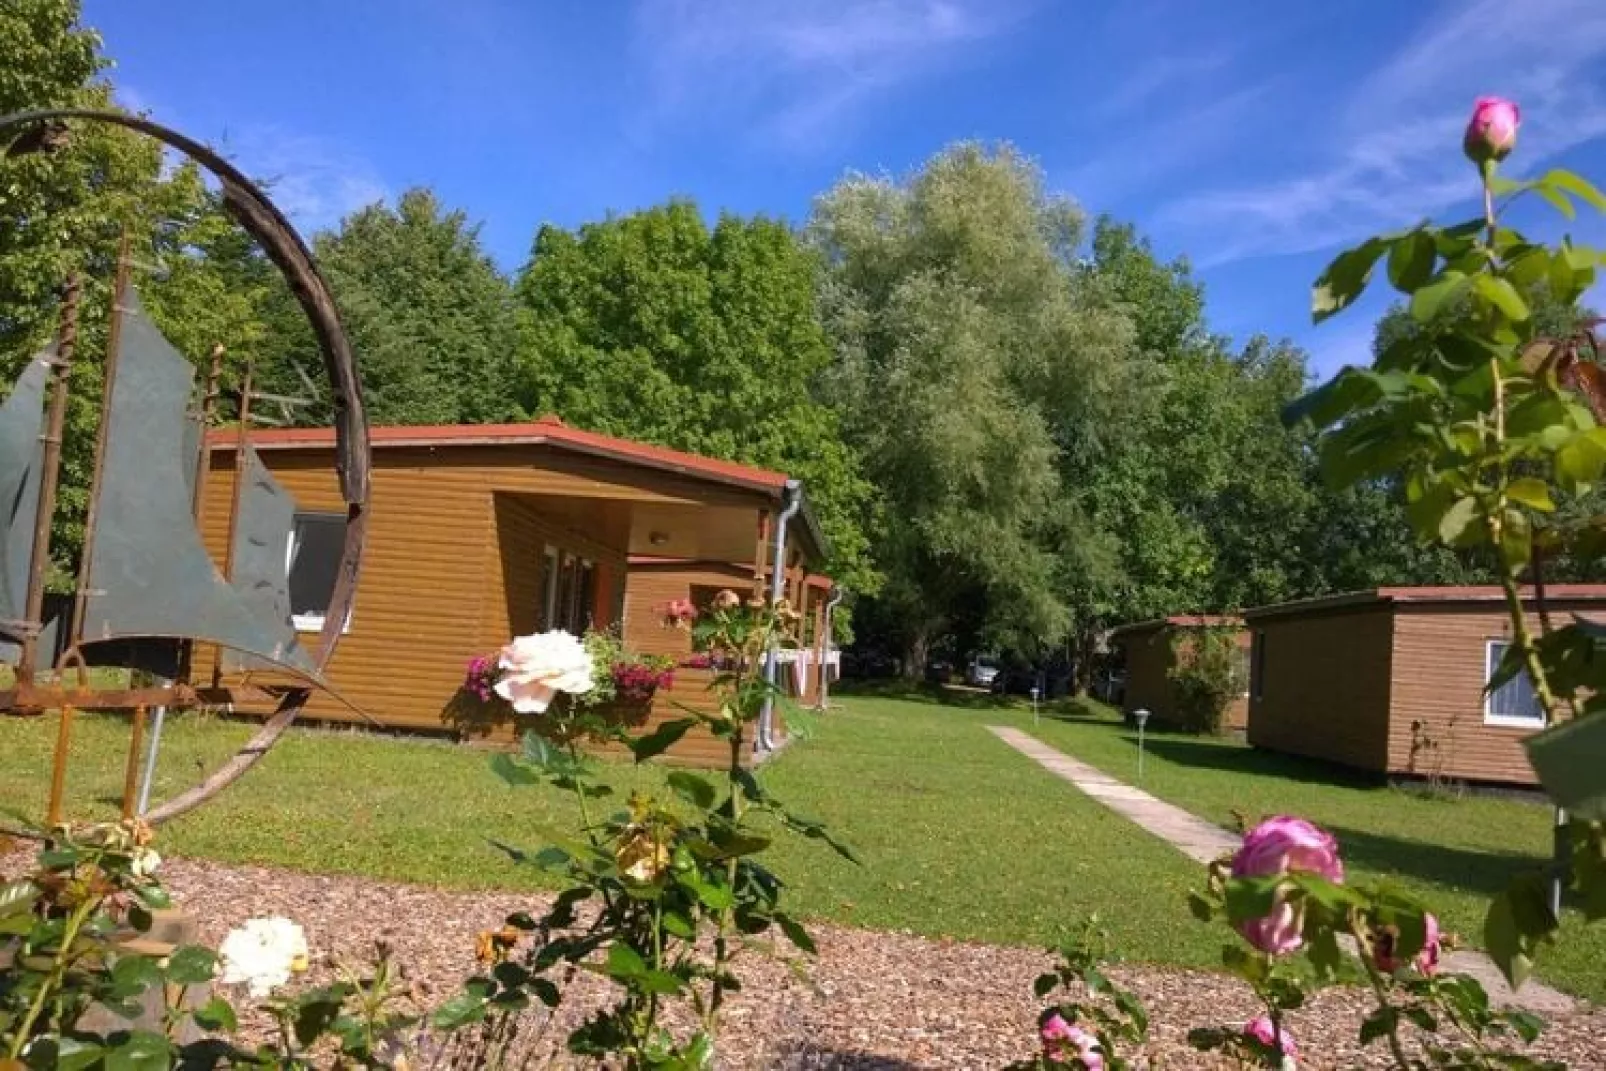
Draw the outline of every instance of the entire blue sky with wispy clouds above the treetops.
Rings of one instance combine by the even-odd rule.
[[[1380,312],[1309,326],[1333,252],[1474,209],[1474,96],[1521,103],[1516,173],[1606,185],[1601,0],[87,0],[85,18],[125,103],[275,178],[304,228],[427,185],[516,268],[543,222],[675,194],[801,220],[848,170],[1009,140],[1188,255],[1217,331],[1290,336],[1320,371],[1363,360]],[[1516,222],[1563,233],[1548,209]]]

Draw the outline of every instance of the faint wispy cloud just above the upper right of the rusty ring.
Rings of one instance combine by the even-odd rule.
[[[373,164],[324,138],[255,125],[231,132],[220,148],[305,231],[336,226],[390,196]]]

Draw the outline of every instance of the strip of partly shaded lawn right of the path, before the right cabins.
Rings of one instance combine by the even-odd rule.
[[[1062,705],[1036,735],[1129,782],[1137,734],[1097,703]],[[1028,718],[1029,719],[1029,718]],[[1351,880],[1389,880],[1433,906],[1476,944],[1489,896],[1518,872],[1545,865],[1551,811],[1542,803],[1391,788],[1338,768],[1230,740],[1148,734],[1142,787],[1217,822],[1299,814],[1330,830]],[[1606,1000],[1606,925],[1566,920],[1564,939],[1540,955],[1540,975]]]

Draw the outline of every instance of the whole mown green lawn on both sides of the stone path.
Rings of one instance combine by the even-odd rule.
[[[1095,708],[1070,708],[1078,715]],[[859,926],[1047,944],[1099,912],[1123,954],[1209,965],[1221,931],[1184,902],[1200,867],[1082,796],[986,732],[1031,729],[1031,715],[986,697],[853,697],[829,716],[789,718],[806,739],[763,769],[795,809],[827,821],[864,857],[838,859],[782,837],[771,854],[798,909]],[[1089,716],[1044,718],[1039,735],[1132,779],[1129,734]],[[125,724],[82,716],[69,812],[106,814],[122,784]],[[251,732],[214,718],[170,724],[157,796],[212,769]],[[0,718],[0,808],[39,812],[53,719]],[[1548,811],[1500,800],[1425,800],[1336,779],[1241,745],[1155,735],[1143,787],[1232,824],[1304,814],[1331,829],[1357,877],[1397,877],[1460,931],[1476,935],[1481,899],[1545,851]],[[620,788],[654,788],[658,768],[610,764]],[[532,845],[533,825],[569,821],[564,796],[507,788],[487,755],[410,737],[292,731],[243,782],[162,835],[164,851],[228,862],[366,873],[454,888],[532,888],[541,875],[487,845]],[[1574,928],[1542,975],[1606,999],[1606,926]]]

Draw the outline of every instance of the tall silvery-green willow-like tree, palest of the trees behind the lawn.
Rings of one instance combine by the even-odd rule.
[[[1084,535],[1060,466],[1097,451],[1132,350],[1127,320],[1078,284],[1081,214],[1013,149],[957,145],[904,183],[845,178],[809,236],[829,397],[885,501],[878,617],[906,671],[973,617],[1001,645],[1060,642],[1054,543]]]

